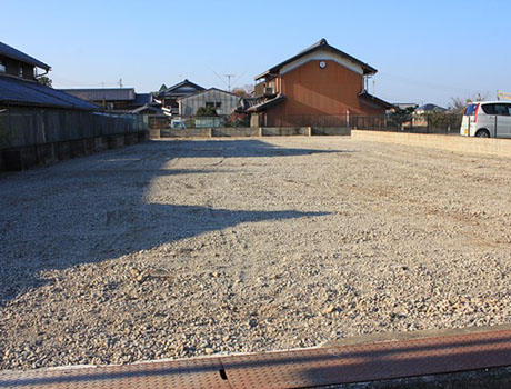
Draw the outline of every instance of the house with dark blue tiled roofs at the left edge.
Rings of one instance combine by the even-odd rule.
[[[0,108],[57,108],[79,111],[96,111],[98,107],[42,86],[37,81],[37,70],[51,67],[6,43],[0,42]],[[40,74],[40,76],[43,76]]]

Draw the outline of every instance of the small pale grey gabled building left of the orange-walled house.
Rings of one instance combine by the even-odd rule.
[[[240,106],[241,97],[217,88],[210,88],[180,98],[179,114],[196,116],[199,108],[211,107],[218,116],[229,116]]]

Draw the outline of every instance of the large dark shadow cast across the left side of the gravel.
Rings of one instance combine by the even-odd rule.
[[[317,152],[334,151],[275,148],[258,140],[149,142],[12,174],[0,181],[0,307],[48,282],[40,278],[42,270],[113,259],[239,223],[328,215],[144,201],[157,178],[180,181],[190,192],[203,189],[188,186],[188,174],[236,173],[173,169],[176,158]]]

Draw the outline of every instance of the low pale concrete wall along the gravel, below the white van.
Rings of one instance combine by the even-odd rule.
[[[511,157],[511,140],[455,136],[352,130],[351,139],[405,146],[421,146],[454,152]]]

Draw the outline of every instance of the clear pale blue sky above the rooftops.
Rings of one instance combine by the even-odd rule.
[[[321,38],[379,70],[390,102],[511,92],[511,1],[2,1],[0,41],[52,67],[57,88],[227,89]],[[372,88],[371,88],[372,90]]]

